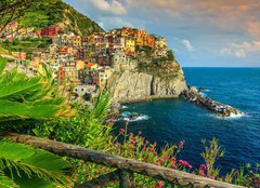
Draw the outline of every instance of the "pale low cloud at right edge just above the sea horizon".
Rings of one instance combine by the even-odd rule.
[[[260,52],[260,41],[232,43],[227,48],[222,48],[220,50],[220,55],[243,58],[247,56],[247,53],[253,52]]]

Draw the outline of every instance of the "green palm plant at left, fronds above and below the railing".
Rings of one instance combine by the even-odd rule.
[[[65,119],[70,106],[58,95],[47,73],[27,77],[14,68],[4,71],[6,59],[0,58],[0,130],[31,120]],[[68,162],[43,150],[0,139],[0,187],[46,187],[67,183],[63,170]],[[32,186],[34,185],[34,186]]]

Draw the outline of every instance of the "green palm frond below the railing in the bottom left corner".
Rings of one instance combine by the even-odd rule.
[[[43,150],[8,140],[0,142],[0,170],[11,178],[35,176],[47,182],[66,185],[67,179],[63,170],[69,167],[69,163],[62,158]],[[15,178],[17,179],[17,178]]]

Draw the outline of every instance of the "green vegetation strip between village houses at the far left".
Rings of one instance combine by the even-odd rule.
[[[11,52],[26,52],[27,58],[31,59],[31,54],[37,49],[47,49],[52,43],[51,38],[26,38],[23,40],[14,39],[13,42],[2,42],[2,48]]]

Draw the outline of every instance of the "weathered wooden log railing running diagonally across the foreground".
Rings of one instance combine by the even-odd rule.
[[[223,182],[213,180],[191,173],[185,173],[182,171],[157,166],[151,163],[122,158],[119,156],[112,156],[108,153],[90,150],[83,147],[39,138],[35,136],[9,133],[4,135],[4,137],[8,137],[17,143],[30,145],[35,148],[48,150],[58,156],[72,157],[75,159],[80,159],[117,169],[112,173],[104,174],[88,183],[83,183],[81,185],[82,187],[100,187],[106,185],[109,182],[119,180],[120,188],[133,188],[135,187],[133,180],[133,173],[142,174],[156,179],[166,180],[168,183],[178,183],[180,186],[193,185],[194,187],[221,187],[221,188],[242,187]]]

